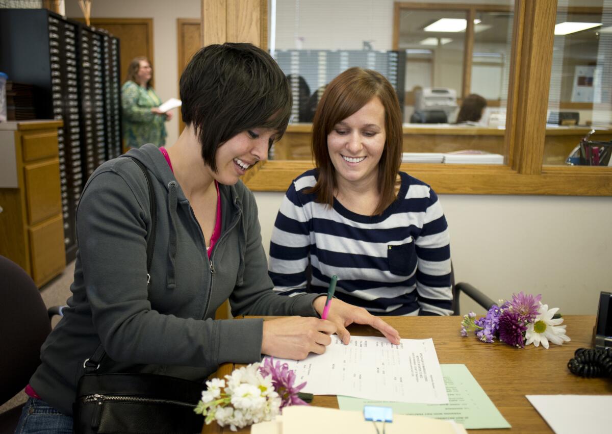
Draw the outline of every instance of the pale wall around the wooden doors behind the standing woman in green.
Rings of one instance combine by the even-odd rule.
[[[200,18],[200,0],[103,0],[91,2],[91,18],[152,18],[155,92],[162,100],[179,97],[177,18]],[[65,2],[67,17],[83,17],[76,0]],[[144,53],[143,53],[144,54]],[[166,145],[179,137],[178,111],[166,122]]]

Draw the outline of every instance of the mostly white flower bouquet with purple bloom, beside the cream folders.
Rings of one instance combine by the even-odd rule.
[[[206,381],[206,390],[194,411],[204,422],[230,426],[232,431],[257,422],[271,421],[288,405],[307,405],[298,397],[306,385],[295,386],[296,374],[286,363],[266,358],[234,370],[225,378]]]

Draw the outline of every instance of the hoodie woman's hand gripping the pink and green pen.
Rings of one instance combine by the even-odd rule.
[[[261,353],[281,359],[302,360],[309,353],[323,354],[336,332],[331,321],[313,317],[288,316],[264,321]]]

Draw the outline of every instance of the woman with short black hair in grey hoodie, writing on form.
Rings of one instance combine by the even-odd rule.
[[[186,125],[178,141],[127,154],[149,171],[151,185],[136,162],[120,157],[84,188],[73,296],[42,347],[20,433],[72,432],[76,384],[100,344],[108,356],[101,372],[203,381],[224,362],[323,353],[334,332],[348,343],[343,327],[353,321],[399,343],[388,324],[340,301],[320,320],[325,297],[272,291],[255,198],[239,180],[266,160],[289,119],[289,85],[271,56],[246,43],[202,48],[180,88]],[[157,230],[147,275],[149,191]],[[302,316],[214,320],[226,299],[234,315]]]

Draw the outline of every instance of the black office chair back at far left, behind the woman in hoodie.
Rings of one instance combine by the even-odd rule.
[[[13,261],[0,256],[0,405],[23,390],[40,364],[40,346],[51,332],[51,316],[39,288]],[[23,405],[0,414],[0,434],[15,432]]]

